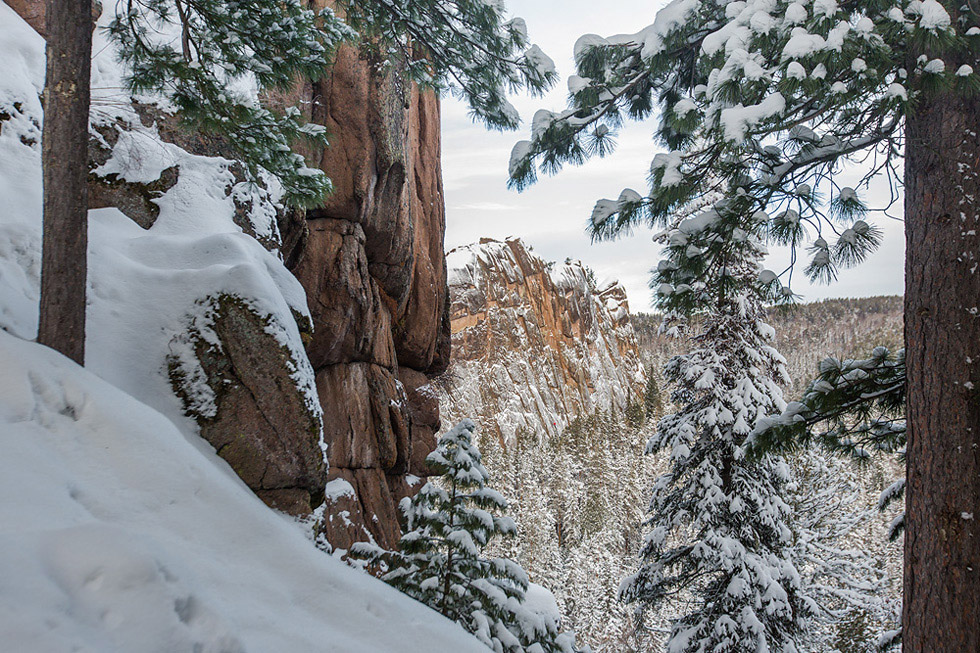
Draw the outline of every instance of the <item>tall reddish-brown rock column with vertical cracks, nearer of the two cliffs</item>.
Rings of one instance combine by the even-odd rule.
[[[392,546],[406,477],[425,475],[449,358],[439,102],[354,48],[303,90],[330,147],[307,152],[334,194],[306,216],[294,273],[307,290],[330,478],[357,494],[327,506],[328,540]]]

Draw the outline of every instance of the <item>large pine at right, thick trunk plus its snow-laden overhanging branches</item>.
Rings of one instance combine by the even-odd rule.
[[[716,273],[733,241],[757,230],[792,250],[786,270],[759,274],[763,290],[792,298],[804,254],[807,276],[832,281],[880,240],[862,199],[872,180],[892,190],[878,207],[885,212],[904,184],[905,645],[916,653],[980,647],[980,575],[963,571],[980,568],[977,522],[968,518],[980,501],[980,459],[963,453],[980,446],[976,8],[951,0],[673,0],[646,29],[586,35],[575,54],[570,107],[535,115],[531,139],[512,153],[515,186],[532,183],[536,166],[554,172],[610,153],[624,119],[659,109],[657,136],[668,151],[653,158],[649,191],[599,201],[594,236],[669,226],[719,197],[747,205],[739,224],[707,225],[713,238],[658,268],[662,306],[710,304],[712,284],[731,283]],[[853,186],[839,180],[846,164],[862,173]]]

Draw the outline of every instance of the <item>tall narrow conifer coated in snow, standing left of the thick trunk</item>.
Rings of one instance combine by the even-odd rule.
[[[731,210],[718,204],[678,231]],[[672,245],[674,257],[682,247]],[[671,653],[795,651],[813,610],[792,557],[788,467],[744,456],[756,421],[783,408],[786,377],[751,284],[762,248],[746,234],[739,251],[694,350],[666,367],[679,410],[660,421],[647,451],[668,452],[670,468],[654,483],[640,568],[621,589],[641,611],[688,606],[672,625]]]

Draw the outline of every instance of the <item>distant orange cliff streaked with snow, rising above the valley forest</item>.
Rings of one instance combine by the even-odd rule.
[[[453,363],[447,418],[472,417],[483,437],[557,436],[576,416],[621,412],[645,377],[618,283],[599,287],[579,261],[547,263],[520,240],[450,252]]]

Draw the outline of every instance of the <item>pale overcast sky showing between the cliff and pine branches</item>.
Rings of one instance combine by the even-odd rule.
[[[659,246],[651,241],[651,232],[644,230],[629,238],[593,245],[585,225],[597,199],[616,198],[626,187],[641,193],[646,190],[646,171],[659,151],[652,140],[653,122],[628,125],[620,132],[611,157],[578,168],[566,167],[554,177],[541,176],[523,193],[507,189],[507,162],[513,144],[528,138],[528,123],[536,109],[565,108],[565,80],[574,73],[575,40],[585,33],[609,36],[636,32],[653,22],[660,6],[662,2],[657,0],[507,0],[508,9],[527,20],[531,41],[555,60],[561,79],[544,98],[513,98],[525,121],[517,132],[488,132],[470,120],[463,104],[444,99],[447,250],[483,236],[519,236],[546,260],[581,259],[600,279],[618,279],[626,287],[634,311],[650,309],[649,270],[659,260]],[[858,268],[844,271],[830,286],[794,280],[794,290],[805,301],[902,293],[902,224],[883,217],[873,221],[885,231],[881,249]],[[771,258],[768,267],[778,271],[786,266],[789,254],[776,250]]]

